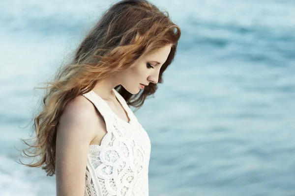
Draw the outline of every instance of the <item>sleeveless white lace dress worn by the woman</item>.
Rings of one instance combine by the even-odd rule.
[[[130,121],[122,120],[96,93],[88,98],[105,120],[101,145],[90,145],[85,196],[148,196],[150,140],[125,99],[113,89]]]

